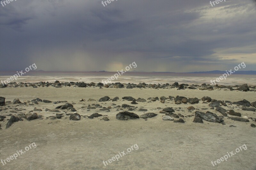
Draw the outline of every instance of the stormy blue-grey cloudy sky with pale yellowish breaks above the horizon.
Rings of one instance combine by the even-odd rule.
[[[256,70],[256,0],[104,5],[100,0],[0,4],[0,71],[33,63],[45,71],[116,71],[133,62],[133,70],[148,72],[230,70],[242,62],[241,71]]]

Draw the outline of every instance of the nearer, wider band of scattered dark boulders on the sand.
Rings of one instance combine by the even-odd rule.
[[[178,84],[175,84],[175,85],[178,86]],[[187,104],[187,103],[189,103],[189,104],[193,105],[193,104],[199,103],[201,101],[202,103],[208,104],[208,106],[211,107],[211,109],[215,108],[216,111],[218,111],[219,113],[222,114],[222,116],[217,116],[216,114],[214,114],[210,111],[207,111],[206,113],[200,112],[200,111],[195,111],[194,115],[181,115],[180,113],[175,114],[175,110],[172,107],[165,107],[159,112],[161,114],[165,114],[165,115],[162,116],[162,120],[164,120],[164,121],[173,121],[173,122],[176,122],[176,123],[185,123],[186,121],[184,121],[183,119],[187,118],[187,117],[191,117],[191,116],[194,116],[194,121],[193,122],[195,122],[195,123],[203,123],[203,121],[208,121],[208,122],[216,122],[216,123],[225,124],[224,120],[223,120],[224,117],[228,117],[228,119],[231,119],[231,120],[234,120],[234,121],[250,122],[247,119],[248,118],[247,116],[241,117],[242,116],[241,113],[235,112],[233,109],[226,110],[225,108],[221,107],[221,106],[227,107],[228,105],[232,105],[232,104],[236,105],[236,106],[242,106],[243,107],[242,110],[252,111],[252,112],[256,111],[256,101],[252,102],[252,103],[250,103],[247,100],[230,102],[230,101],[223,101],[223,100],[215,100],[215,99],[212,99],[211,97],[208,97],[208,96],[204,96],[201,99],[187,98],[187,97],[184,97],[184,96],[176,96],[176,97],[174,97],[174,96],[169,96],[169,97],[161,96],[160,98],[158,98],[158,97],[149,97],[147,99],[148,101],[145,100],[145,99],[141,99],[141,98],[135,99],[131,96],[124,96],[124,97],[122,97],[122,99],[123,99],[123,101],[131,102],[131,104],[133,104],[133,105],[138,104],[137,102],[156,102],[156,101],[160,101],[161,103],[165,103],[166,100],[174,101],[175,104]],[[104,96],[104,97],[100,98],[98,101],[99,102],[107,102],[107,101],[117,101],[117,100],[119,100],[119,97],[115,97],[113,99],[110,99],[110,97]],[[79,101],[85,101],[85,100],[81,99]],[[96,100],[89,99],[87,101],[96,101]],[[42,99],[39,99],[39,98],[36,98],[36,99],[33,99],[33,100],[24,100],[23,103],[18,98],[14,99],[12,102],[11,101],[5,102],[5,98],[0,97],[0,106],[5,106],[6,103],[12,103],[12,104],[17,104],[17,105],[27,105],[27,104],[28,105],[34,105],[34,104],[38,105],[39,104],[38,102],[52,103],[52,101],[50,101],[50,100],[42,100]],[[66,115],[69,116],[69,120],[73,120],[73,121],[79,121],[79,120],[81,120],[81,117],[93,119],[95,117],[103,116],[103,115],[98,114],[98,113],[94,113],[90,116],[79,115],[77,113],[77,110],[74,108],[74,105],[73,105],[73,104],[76,104],[76,103],[71,104],[71,103],[67,103],[67,101],[55,101],[53,103],[54,104],[63,103],[63,104],[55,107],[55,109],[48,109],[48,108],[45,109],[45,111],[48,111],[48,112],[57,112],[56,116],[47,117],[47,118],[50,118],[50,119],[61,119],[62,117],[64,117],[64,114],[58,114],[60,112],[60,110],[69,110],[69,111],[73,112],[72,114],[69,114],[69,113],[67,114],[66,113]],[[116,119],[118,119],[118,120],[132,120],[132,119],[139,119],[139,118],[147,120],[148,118],[153,118],[153,117],[158,115],[158,114],[155,114],[155,113],[145,113],[145,114],[142,114],[142,115],[139,116],[139,115],[137,115],[133,112],[129,112],[129,111],[136,110],[138,107],[135,107],[135,106],[132,106],[132,105],[129,105],[129,104],[122,104],[122,106],[120,106],[120,105],[116,106],[116,104],[112,104],[112,105],[114,106],[114,108],[117,108],[116,111],[123,110],[125,108],[128,109],[128,111],[122,111],[122,112],[119,112],[118,114],[116,114]],[[82,107],[82,109],[83,108],[84,107]],[[87,111],[89,111],[90,109],[99,108],[100,111],[106,111],[106,112],[109,112],[110,109],[112,109],[111,106],[102,107],[99,104],[92,104],[92,106],[88,105],[85,108],[88,109]],[[8,109],[7,107],[0,107],[0,111],[7,110],[7,109]],[[58,110],[58,109],[60,109],[60,110]],[[157,107],[157,109],[161,109],[161,107]],[[193,107],[193,106],[189,106],[187,109],[189,110],[189,112],[192,112],[192,110],[196,110],[196,108]],[[15,109],[15,110],[20,111],[19,109]],[[17,113],[15,110],[10,111],[10,112],[11,113]],[[197,110],[199,110],[199,109],[197,109]],[[34,110],[32,110],[30,112],[34,112],[34,111],[42,111],[42,109],[35,108]],[[147,112],[148,110],[145,109],[145,108],[139,108],[137,111]],[[180,110],[176,109],[176,111],[180,111]],[[231,117],[229,117],[228,115],[231,115]],[[8,115],[8,116],[11,116],[11,118],[8,120],[6,128],[9,128],[14,122],[23,121],[23,119],[26,119],[28,121],[31,121],[31,120],[34,120],[34,119],[43,119],[42,118],[43,116],[38,115],[37,113],[19,114],[19,116],[14,116],[14,115]],[[105,115],[105,117],[103,117],[102,120],[108,121],[109,119],[106,116],[108,116],[108,115]],[[232,116],[236,116],[236,117],[232,117]],[[4,121],[5,118],[6,118],[5,115],[1,115],[0,116],[0,122]],[[252,119],[252,121],[255,121],[254,118],[250,118],[250,119]],[[252,123],[251,126],[254,127],[255,125]]]

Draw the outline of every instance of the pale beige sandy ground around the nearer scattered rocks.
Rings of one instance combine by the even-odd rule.
[[[115,88],[53,88],[53,87],[22,87],[0,89],[0,96],[5,97],[5,101],[12,101],[19,98],[20,101],[40,98],[42,100],[67,100],[69,103],[75,102],[74,107],[80,115],[91,115],[99,113],[108,115],[110,121],[100,120],[102,117],[88,119],[81,118],[80,121],[71,121],[68,118],[47,120],[46,117],[55,115],[52,112],[45,112],[45,108],[54,109],[60,104],[39,102],[38,105],[13,105],[6,104],[5,107],[23,108],[22,113],[36,108],[41,108],[43,120],[24,120],[15,122],[10,128],[5,129],[7,120],[0,122],[0,159],[6,159],[15,154],[16,151],[23,150],[29,144],[35,142],[36,148],[31,148],[26,153],[20,155],[17,160],[11,160],[7,164],[0,164],[0,169],[256,169],[256,128],[250,125],[252,122],[235,122],[223,118],[226,125],[204,121],[203,124],[194,123],[194,116],[184,118],[185,123],[174,123],[173,121],[163,121],[159,113],[162,109],[157,107],[173,107],[180,111],[176,114],[191,115],[188,106],[194,106],[199,111],[206,112],[201,108],[208,108],[208,111],[221,115],[219,112],[210,109],[208,104],[200,102],[198,104],[176,105],[173,101],[166,100],[166,103],[138,102],[139,108],[148,109],[147,112],[134,112],[137,115],[153,112],[158,114],[154,118],[120,121],[116,120],[116,108],[110,112],[91,109],[87,111],[88,104],[100,104],[102,107],[130,104],[131,101],[123,101],[124,96],[134,98],[161,97],[161,96],[185,96],[197,97],[209,96],[216,100],[229,100],[231,102],[246,99],[250,102],[256,101],[255,92],[239,92],[228,90],[176,90],[176,89],[115,89]],[[98,102],[101,97],[109,96],[111,99],[118,96],[121,100],[117,102]],[[85,102],[79,102],[84,98]],[[95,99],[96,102],[88,99]],[[130,104],[132,105],[132,104]],[[255,112],[241,110],[236,105],[236,112],[242,116],[256,118]],[[224,107],[225,109],[230,109]],[[12,109],[1,111],[0,115],[10,114]],[[127,110],[127,109],[124,109]],[[65,110],[67,113],[70,111]],[[62,113],[64,113],[62,111]],[[17,113],[18,114],[18,113]],[[13,114],[15,115],[15,114]],[[9,117],[8,117],[9,118]],[[7,118],[6,118],[7,119]],[[255,124],[255,122],[254,122]],[[229,127],[235,125],[236,127]],[[127,152],[137,144],[139,149],[121,157],[118,161],[108,163],[104,166],[103,160],[108,160],[119,152]],[[211,161],[216,161],[227,152],[236,152],[236,148],[246,144],[247,150],[242,150],[236,155],[228,158],[227,161],[220,162],[217,166],[212,166]]]

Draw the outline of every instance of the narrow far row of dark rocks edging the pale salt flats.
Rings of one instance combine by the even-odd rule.
[[[134,83],[109,83],[104,85],[103,83],[84,83],[84,82],[61,82],[56,80],[54,83],[49,83],[49,82],[39,82],[39,83],[16,83],[16,82],[10,82],[8,84],[0,84],[0,88],[5,88],[5,87],[33,87],[33,88],[37,88],[37,87],[55,87],[55,88],[61,88],[63,86],[69,86],[69,87],[104,87],[104,88],[127,88],[127,89],[132,89],[132,88],[177,88],[177,90],[184,90],[184,89],[199,89],[199,90],[214,90],[214,89],[222,89],[222,88],[226,88],[229,90],[239,90],[239,91],[256,91],[256,86],[248,86],[247,84],[243,84],[243,85],[234,85],[234,86],[226,86],[226,85],[210,85],[210,84],[206,84],[203,83],[201,85],[188,85],[188,84],[180,84],[178,82],[173,83],[172,85],[170,85],[169,83],[165,83],[163,85],[160,85],[158,83],[157,84],[146,84],[146,83],[139,83],[139,84],[134,84]]]

